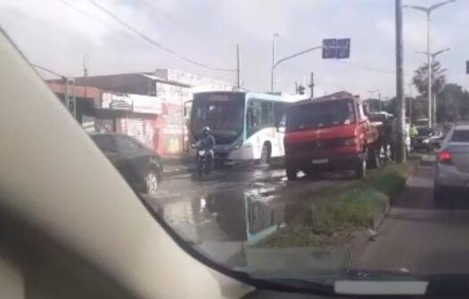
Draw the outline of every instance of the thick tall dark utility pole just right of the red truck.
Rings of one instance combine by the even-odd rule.
[[[402,2],[395,0],[396,5],[396,100],[398,111],[398,136],[396,150],[399,163],[407,161],[406,145],[406,105],[404,105],[404,46],[402,42]]]

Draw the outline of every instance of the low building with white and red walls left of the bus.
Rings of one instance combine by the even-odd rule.
[[[188,150],[190,101],[193,93],[231,90],[226,82],[172,69],[155,72],[74,78],[69,93],[76,98],[76,117],[87,132],[125,133],[162,156]],[[61,80],[48,85],[62,101]]]

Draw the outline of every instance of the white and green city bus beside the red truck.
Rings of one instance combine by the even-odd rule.
[[[215,137],[215,160],[260,160],[284,156],[285,109],[296,96],[251,92],[209,92],[193,95],[190,131],[193,141],[208,125]],[[279,129],[280,128],[280,129]]]

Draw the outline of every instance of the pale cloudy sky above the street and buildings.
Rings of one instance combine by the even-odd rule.
[[[403,0],[429,5],[440,0]],[[350,37],[350,60],[322,60],[319,52],[285,62],[276,70],[276,90],[314,71],[317,94],[348,90],[362,96],[379,90],[393,96],[394,0],[99,0],[152,40],[202,64],[234,69],[235,44],[241,47],[243,86],[267,91],[271,45],[278,33],[277,57],[321,44],[323,38]],[[90,75],[172,68],[234,83],[233,72],[204,69],[145,41],[97,8],[90,0],[0,0],[0,25],[29,61],[66,75],[81,76],[84,55]],[[450,47],[439,60],[448,81],[469,87],[469,1],[458,0],[434,12],[432,51]],[[424,13],[404,12],[407,84],[424,62]],[[44,74],[47,76],[46,74]],[[408,92],[408,89],[407,89]],[[413,89],[412,93],[416,93]]]

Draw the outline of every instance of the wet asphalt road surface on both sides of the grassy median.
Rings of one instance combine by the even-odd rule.
[[[333,175],[333,176],[331,176]],[[469,196],[448,194],[455,205],[432,198],[433,168],[424,163],[391,205],[374,242],[352,268],[413,273],[469,269]],[[287,182],[283,169],[235,166],[200,181],[179,174],[163,182],[152,203],[187,241],[219,263],[242,267],[243,248],[298,213],[310,193],[353,182],[342,174]]]

